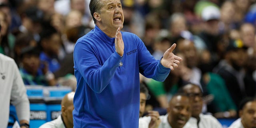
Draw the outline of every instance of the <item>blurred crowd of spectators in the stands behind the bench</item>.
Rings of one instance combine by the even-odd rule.
[[[94,28],[90,0],[0,0],[0,53],[13,58],[25,85],[76,90],[73,50]],[[173,43],[183,58],[164,82],[141,76],[146,111],[166,114],[184,84],[203,92],[203,113],[238,116],[243,98],[256,96],[255,0],[121,0],[122,31],[138,35],[160,59]],[[161,113],[162,112],[162,113]]]

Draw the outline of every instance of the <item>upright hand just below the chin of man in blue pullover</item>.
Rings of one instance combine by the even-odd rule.
[[[124,41],[123,41],[122,34],[121,34],[120,30],[121,30],[120,27],[118,27],[118,29],[116,30],[115,48],[116,48],[116,52],[118,53],[118,55],[123,56]]]

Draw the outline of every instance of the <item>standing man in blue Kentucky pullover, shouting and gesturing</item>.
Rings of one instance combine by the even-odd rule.
[[[96,26],[74,48],[74,128],[138,128],[139,73],[164,81],[182,58],[174,44],[156,60],[138,36],[121,32],[120,0],[90,0],[90,12]]]

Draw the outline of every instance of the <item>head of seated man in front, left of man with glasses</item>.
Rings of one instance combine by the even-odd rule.
[[[175,96],[170,101],[168,122],[172,128],[182,128],[191,116],[190,100],[186,96]]]

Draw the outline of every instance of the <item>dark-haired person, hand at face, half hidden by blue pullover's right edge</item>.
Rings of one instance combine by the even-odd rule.
[[[148,98],[148,88],[140,83],[140,118],[139,128],[158,128],[161,120],[159,119],[158,111],[148,111],[147,115],[144,115],[146,100]]]

